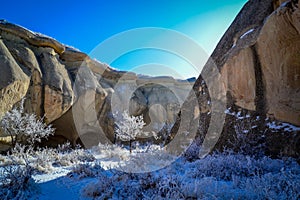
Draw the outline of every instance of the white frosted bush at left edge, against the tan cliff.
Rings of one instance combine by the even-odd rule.
[[[43,119],[38,119],[35,114],[25,113],[23,104],[24,99],[20,102],[19,107],[8,111],[0,122],[4,134],[11,137],[12,146],[18,142],[33,145],[54,133],[51,125],[47,126]]]

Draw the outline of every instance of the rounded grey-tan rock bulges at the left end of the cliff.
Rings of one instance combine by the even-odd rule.
[[[10,28],[9,30],[12,29],[13,31],[8,31],[6,25]],[[19,31],[20,27],[6,22],[1,24],[1,27],[3,26],[6,28],[0,29],[1,41],[7,50],[1,51],[1,53],[5,54],[5,56],[10,55],[8,57],[9,62],[15,63],[14,67],[10,66],[10,68],[18,70],[18,72],[15,72],[17,76],[22,74],[24,76],[20,84],[23,87],[20,87],[20,89],[23,91],[16,91],[18,97],[16,100],[9,100],[11,101],[11,106],[26,96],[25,108],[27,111],[35,112],[39,116],[45,116],[45,120],[48,123],[54,121],[64,114],[73,103],[74,94],[68,71],[61,64],[59,55],[53,48],[43,47],[43,45],[41,45],[42,47],[31,46],[18,34],[13,34]],[[52,39],[48,40],[52,41]],[[35,45],[37,44],[35,43]],[[4,59],[1,59],[1,63],[5,63]],[[1,64],[1,67],[3,66]],[[1,80],[5,80],[8,77],[9,74],[6,71],[1,73]],[[23,81],[25,79],[26,81]],[[7,88],[5,85],[3,87]],[[4,102],[5,105],[9,104]],[[0,115],[2,116],[8,109],[7,107]]]

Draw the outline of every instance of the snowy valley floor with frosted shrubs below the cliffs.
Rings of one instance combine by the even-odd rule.
[[[241,122],[235,126],[237,139],[255,128],[250,114],[230,108],[225,113]],[[287,123],[266,123],[271,130],[299,131]],[[241,153],[199,159],[197,145],[178,157],[137,142],[132,151],[118,145],[85,150],[16,144],[9,155],[0,155],[0,199],[300,199],[299,159],[271,159],[251,145],[242,147]]]

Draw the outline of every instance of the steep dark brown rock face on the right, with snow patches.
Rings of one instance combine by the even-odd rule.
[[[270,154],[300,155],[300,129],[278,128],[282,122],[300,126],[299,7],[298,0],[250,0],[222,37],[194,85],[202,107],[205,101],[212,100],[213,104],[225,103],[227,108],[219,110],[226,113],[223,130],[214,135],[217,139],[207,142],[209,150],[230,147],[237,138],[234,135],[237,129],[250,126],[247,131],[262,138]],[[213,76],[215,69],[217,76]],[[212,85],[216,85],[214,90],[210,89]],[[210,93],[209,96],[203,95],[203,90]],[[217,95],[222,91],[226,93],[225,101]],[[183,109],[192,113],[190,104],[186,102]],[[198,135],[204,136],[210,133],[209,126],[203,122],[214,114],[211,114],[211,105],[200,111],[201,115],[194,117],[200,119]],[[251,118],[248,125],[242,120],[246,116]],[[173,134],[178,131],[178,121]],[[277,126],[270,127],[270,124]],[[201,126],[206,126],[206,132],[201,132]]]

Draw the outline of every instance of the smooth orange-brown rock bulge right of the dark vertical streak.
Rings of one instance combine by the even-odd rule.
[[[268,115],[300,126],[300,9],[289,2],[272,13],[257,38]]]

